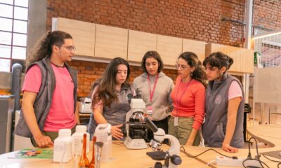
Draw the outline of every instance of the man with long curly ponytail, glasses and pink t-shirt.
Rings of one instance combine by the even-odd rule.
[[[27,60],[22,85],[22,113],[15,133],[31,137],[34,146],[53,145],[58,130],[79,123],[77,73],[66,62],[74,55],[72,36],[48,32],[39,49]]]

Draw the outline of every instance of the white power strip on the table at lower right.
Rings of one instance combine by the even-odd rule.
[[[218,166],[229,166],[229,167],[243,167],[243,161],[245,158],[227,158],[224,156],[216,157],[216,165]]]

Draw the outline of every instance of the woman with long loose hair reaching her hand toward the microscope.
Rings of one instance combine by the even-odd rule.
[[[134,95],[129,84],[130,66],[121,58],[112,59],[107,65],[98,86],[93,90],[93,118],[89,122],[89,133],[94,134],[98,124],[110,123],[112,137],[122,139],[121,127],[131,107],[128,95]]]

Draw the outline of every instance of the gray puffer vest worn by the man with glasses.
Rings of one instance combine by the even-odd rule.
[[[39,129],[42,131],[44,127],[44,123],[46,117],[48,116],[48,112],[51,108],[51,102],[53,97],[53,90],[55,89],[55,73],[53,72],[53,68],[51,67],[51,62],[49,58],[41,59],[39,62],[34,62],[28,66],[27,71],[34,65],[38,65],[41,70],[41,86],[37,97],[34,101],[33,108],[34,113],[37,119],[37,123],[39,125]],[[70,72],[70,76],[74,83],[74,102],[77,101],[77,72],[70,68],[65,63],[65,67]],[[76,103],[74,103],[74,112],[76,109]],[[15,134],[18,134],[22,137],[32,137],[32,132],[27,126],[25,122],[25,118],[23,113],[20,113],[20,119],[18,121],[18,125],[15,127]]]

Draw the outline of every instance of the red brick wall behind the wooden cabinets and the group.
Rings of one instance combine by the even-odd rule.
[[[46,24],[47,29],[51,29],[51,18],[63,17],[152,34],[242,47],[244,26],[221,22],[221,18],[244,22],[246,2],[246,0],[47,0]],[[280,17],[277,18],[277,15],[273,16],[271,10],[268,11],[272,21],[269,24],[280,29]],[[255,17],[259,14],[254,13],[256,25],[268,20]],[[274,25],[275,21],[279,23]],[[100,78],[107,65],[77,60],[70,64],[79,71],[79,96],[88,94],[89,84]],[[132,66],[132,69],[131,80],[141,74],[140,67]],[[177,75],[175,70],[170,69],[164,69],[164,73],[173,79]]]

